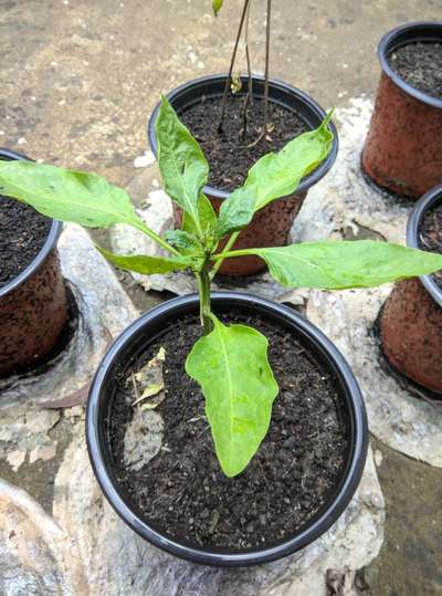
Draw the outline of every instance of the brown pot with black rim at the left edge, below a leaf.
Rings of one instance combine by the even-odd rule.
[[[29,159],[0,149],[0,159]],[[62,223],[53,221],[35,259],[0,287],[0,377],[28,370],[55,347],[69,318],[69,302],[56,241]]]

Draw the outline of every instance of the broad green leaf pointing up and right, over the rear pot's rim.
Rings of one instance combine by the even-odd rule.
[[[222,203],[218,237],[245,228],[269,202],[295,192],[299,181],[324,161],[333,146],[332,113],[316,130],[294,138],[281,151],[264,155],[249,170],[244,185]]]

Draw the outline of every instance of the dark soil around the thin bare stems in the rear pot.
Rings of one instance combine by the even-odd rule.
[[[259,136],[263,124],[263,102],[254,100],[249,106],[248,134],[242,137],[243,106],[245,97],[229,98],[223,132],[218,132],[221,115],[221,97],[202,98],[180,114],[209,161],[209,185],[231,191],[241,186],[249,169],[263,155],[277,151],[290,140],[311,130],[311,126],[295,112],[274,103],[269,105],[269,123],[272,126],[269,139],[248,147]]]

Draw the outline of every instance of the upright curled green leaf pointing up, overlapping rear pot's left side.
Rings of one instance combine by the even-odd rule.
[[[189,130],[179,121],[166,97],[161,100],[156,135],[158,142],[158,164],[165,190],[191,218],[201,237],[203,233],[199,198],[208,181],[209,165]]]

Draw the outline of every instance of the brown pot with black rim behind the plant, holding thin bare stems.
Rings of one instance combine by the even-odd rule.
[[[224,91],[225,74],[204,76],[197,79],[168,93],[167,97],[178,114],[192,105],[201,102],[202,97],[221,96]],[[246,77],[242,76],[241,93],[248,87]],[[253,91],[257,97],[264,95],[264,79],[253,76]],[[282,83],[270,82],[270,101],[296,112],[311,129],[317,128],[326,116],[325,111],[312,97],[302,91]],[[157,138],[155,124],[158,117],[159,104],[156,106],[149,121],[149,143],[152,151],[157,155]],[[332,168],[338,151],[338,136],[333,124],[329,125],[334,133],[334,143],[330,154],[312,174],[303,178],[294,195],[273,201],[259,211],[246,230],[243,230],[234,244],[235,249],[283,247],[287,243],[293,221],[297,216],[308,189],[320,180]],[[229,197],[229,192],[206,186],[203,189],[218,212],[222,201]],[[181,224],[181,211],[173,203],[176,226]],[[220,244],[222,248],[225,241]],[[227,275],[250,275],[265,269],[265,263],[259,257],[240,257],[225,260],[220,273]]]

